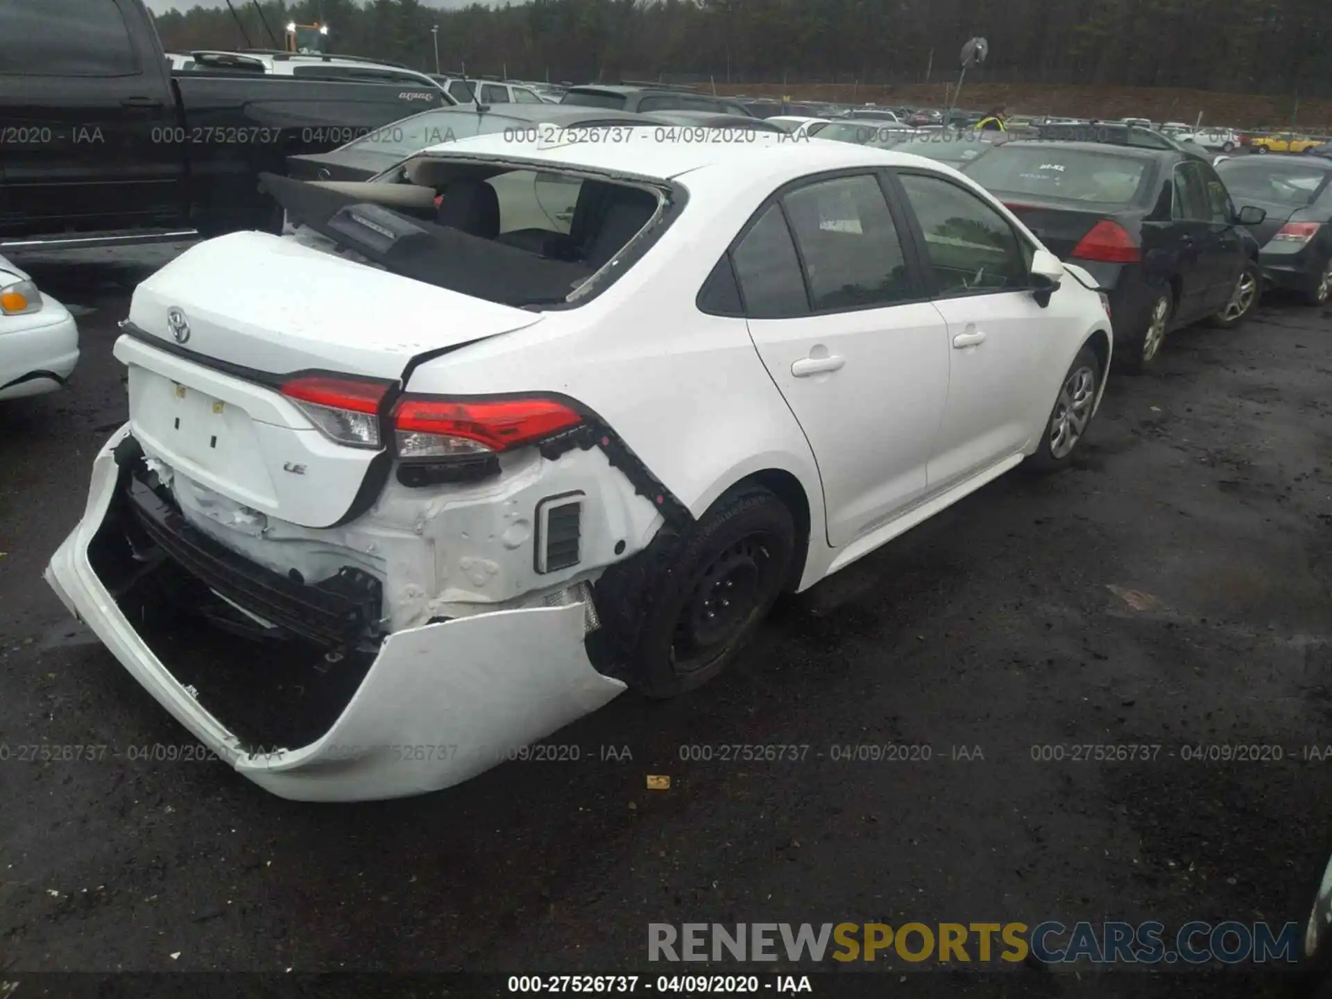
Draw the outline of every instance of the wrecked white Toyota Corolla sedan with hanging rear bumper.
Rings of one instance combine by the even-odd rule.
[[[697,687],[779,593],[1067,465],[1110,366],[1092,280],[912,156],[533,129],[264,184],[285,234],[135,292],[129,422],[47,579],[286,798]]]

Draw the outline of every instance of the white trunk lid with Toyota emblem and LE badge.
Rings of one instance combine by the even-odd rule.
[[[129,422],[144,452],[245,507],[213,502],[229,526],[253,533],[272,515],[328,527],[356,513],[385,452],[325,437],[281,394],[281,376],[396,382],[418,354],[541,318],[289,238],[233,233],[136,289],[139,332],[120,338],[116,357],[129,369]]]

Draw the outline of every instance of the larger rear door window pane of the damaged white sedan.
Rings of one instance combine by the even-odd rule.
[[[785,202],[815,312],[912,297],[898,230],[876,178],[819,181],[793,190]]]

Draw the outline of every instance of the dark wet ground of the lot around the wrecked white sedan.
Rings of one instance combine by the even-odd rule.
[[[81,306],[84,357],[65,392],[0,406],[0,970],[657,974],[653,922],[1303,920],[1332,826],[1332,759],[1303,758],[1332,743],[1332,312],[1264,301],[1241,329],[1172,336],[1159,374],[1112,378],[1075,469],[1007,476],[781,605],[695,694],[623,695],[551,737],[577,761],[314,806],[132,758],[190,739],[41,570],[125,418],[111,350],[145,272],[19,262]],[[855,749],[888,743],[918,749]],[[874,967],[896,994],[964,991]],[[1096,988],[1285,982],[1223,978]],[[1024,967],[966,983],[1090,988]]]

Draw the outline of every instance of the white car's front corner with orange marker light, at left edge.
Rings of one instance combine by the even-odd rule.
[[[41,396],[79,364],[79,326],[32,278],[0,257],[0,400]]]

